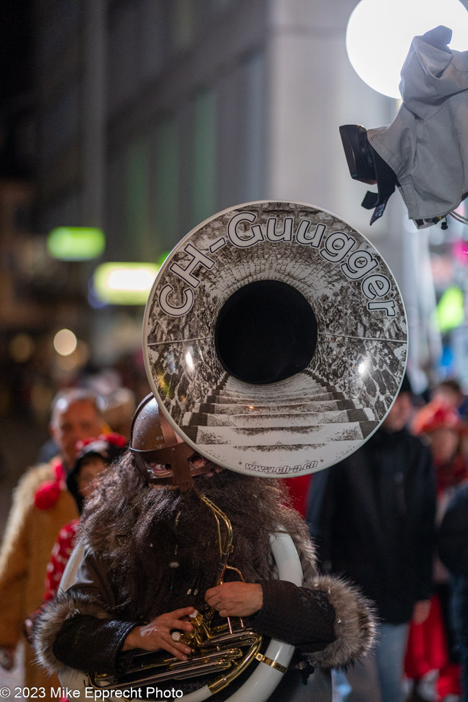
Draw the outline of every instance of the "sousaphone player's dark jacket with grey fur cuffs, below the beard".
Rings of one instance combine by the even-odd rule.
[[[302,684],[300,670],[291,666],[270,701],[285,698],[287,691],[288,699],[297,702],[303,696],[314,702],[328,702],[329,669],[347,665],[366,653],[373,642],[373,616],[369,603],[354,588],[316,573],[310,544],[297,546],[305,574],[304,587],[277,581],[272,573],[271,581],[262,582],[263,607],[250,621],[265,637],[297,645],[317,666],[307,687]],[[112,673],[120,665],[125,667],[128,661],[119,657],[121,644],[131,628],[141,622],[116,616],[118,604],[119,592],[114,589],[105,557],[96,545],[88,545],[76,584],[48,604],[36,623],[36,651],[41,662],[57,671],[69,666]],[[295,658],[296,663],[299,657]],[[325,669],[325,673],[318,668]],[[227,696],[249,674],[247,670],[239,677],[227,690]],[[196,687],[209,682],[197,680],[200,682]],[[185,687],[185,682],[177,682],[178,688],[191,689]],[[168,687],[174,687],[174,681],[170,683]],[[164,683],[158,687],[163,686]],[[217,698],[223,699],[224,692]]]

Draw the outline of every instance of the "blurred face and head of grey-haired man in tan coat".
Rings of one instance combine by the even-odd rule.
[[[104,428],[103,424],[102,417],[89,400],[70,402],[56,409],[51,435],[67,465],[74,463],[76,442],[98,436]]]

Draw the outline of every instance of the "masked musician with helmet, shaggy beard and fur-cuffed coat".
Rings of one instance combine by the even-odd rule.
[[[216,584],[217,529],[201,494],[232,522],[229,564],[246,582],[227,571]],[[302,587],[276,578],[269,538],[280,530],[299,552]],[[369,602],[352,586],[317,574],[307,528],[288,508],[281,480],[239,475],[201,458],[168,426],[152,395],[135,414],[130,451],[102,479],[80,531],[85,550],[74,585],[36,623],[36,653],[48,670],[118,676],[138,649],[164,649],[186,660],[189,645],[172,634],[190,633],[188,616],[208,604],[219,622],[248,618],[264,637],[262,650],[269,638],[297,647],[269,701],[330,702],[323,671],[349,665],[373,643]],[[247,669],[217,700],[233,694],[249,674]],[[157,689],[187,694],[209,680],[166,680]]]

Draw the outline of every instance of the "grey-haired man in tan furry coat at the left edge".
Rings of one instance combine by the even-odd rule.
[[[18,643],[25,640],[25,619],[42,602],[55,538],[63,524],[78,516],[65,484],[74,465],[76,442],[106,430],[94,393],[60,392],[53,401],[50,430],[60,454],[20,479],[0,550],[0,664],[6,670],[14,665]],[[51,684],[25,642],[25,685],[48,688]]]

